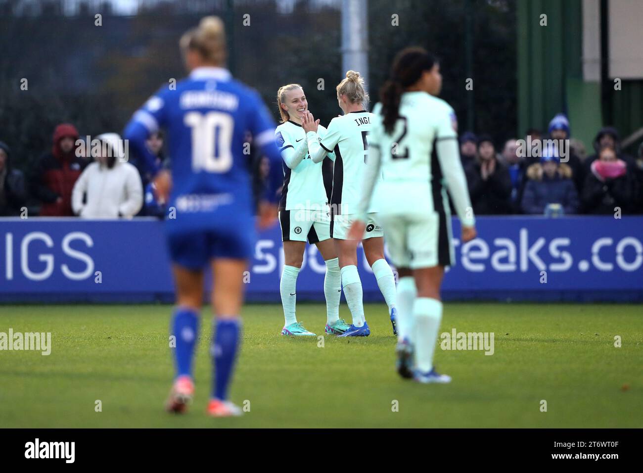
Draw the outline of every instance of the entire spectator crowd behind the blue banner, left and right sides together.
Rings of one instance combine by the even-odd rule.
[[[98,153],[82,145],[73,125],[58,125],[51,150],[26,176],[15,169],[10,147],[0,141],[0,216],[23,215],[29,206],[30,215],[49,217],[162,218],[165,208],[156,201],[150,176],[135,158],[123,159],[120,136],[104,133],[96,140],[102,145]],[[507,140],[500,153],[488,134],[463,133],[460,158],[474,212],[643,214],[643,144],[637,156],[629,156],[620,149],[619,132],[603,127],[592,145],[593,153],[586,156],[583,144],[571,138],[563,114],[554,116],[547,134],[529,129],[523,140]],[[159,166],[168,165],[163,134],[152,134],[147,146]],[[262,159],[254,165],[255,188],[265,167]]]

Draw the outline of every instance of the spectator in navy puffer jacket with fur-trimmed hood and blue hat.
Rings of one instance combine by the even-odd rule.
[[[572,181],[572,169],[555,153],[543,153],[539,163],[527,168],[527,185],[521,207],[525,214],[543,214],[547,205],[559,204],[565,214],[578,212],[578,192]]]

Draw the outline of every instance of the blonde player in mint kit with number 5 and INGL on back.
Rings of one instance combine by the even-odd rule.
[[[367,209],[367,225],[358,239],[350,239],[347,236],[350,225],[357,216],[368,161],[368,133],[373,116],[365,109],[368,94],[364,89],[364,80],[356,71],[348,71],[336,91],[337,101],[344,115],[333,118],[326,133],[321,135],[318,122],[311,113],[307,113],[303,118],[303,129],[307,132],[312,162],[318,162],[327,153],[332,153],[334,159],[331,236],[340,258],[341,284],[352,315],[350,328],[340,337],[370,335],[357,267],[357,247],[360,240],[368,264],[376,277],[377,286],[384,295],[395,333],[395,278],[384,258],[384,234],[377,218],[377,209]]]

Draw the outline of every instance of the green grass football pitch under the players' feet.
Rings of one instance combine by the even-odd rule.
[[[248,304],[231,400],[249,412],[226,419],[204,414],[208,308],[194,403],[184,416],[163,411],[171,310],[0,306],[0,332],[51,332],[52,346],[49,356],[0,351],[0,427],[643,427],[640,305],[447,303],[440,333],[493,332],[494,353],[438,346],[437,369],[453,382],[421,385],[394,371],[384,304],[365,305],[370,337],[323,343],[282,337],[279,305]],[[323,335],[325,305],[297,313]],[[341,313],[350,322],[345,304]]]

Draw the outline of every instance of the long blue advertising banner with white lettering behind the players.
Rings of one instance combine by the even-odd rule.
[[[643,217],[481,217],[477,228],[474,241],[453,240],[446,300],[643,301]],[[358,254],[365,300],[381,300]],[[247,299],[278,302],[283,264],[277,225],[257,239]],[[325,270],[308,246],[298,300],[323,300]],[[173,292],[160,221],[0,219],[0,301],[171,301]]]

